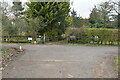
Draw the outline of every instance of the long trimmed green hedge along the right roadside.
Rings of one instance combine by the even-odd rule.
[[[70,38],[71,35],[76,36],[78,43],[118,44],[119,42],[118,29],[68,28],[66,30],[67,38]]]

